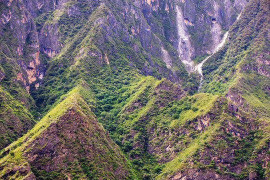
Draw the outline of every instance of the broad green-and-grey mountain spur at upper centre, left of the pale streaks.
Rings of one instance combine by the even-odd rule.
[[[79,10],[71,13],[75,8]],[[35,18],[40,33],[56,28],[57,33],[51,30],[50,34],[57,34],[55,43],[62,44],[48,61],[42,86],[30,90],[41,111],[50,108],[81,78],[96,94],[128,85],[134,76],[131,74],[137,72],[177,83],[187,79],[176,50],[162,34],[151,31],[140,10],[129,1],[68,1],[60,9]],[[168,59],[161,46],[167,50]],[[165,61],[170,61],[170,67]]]

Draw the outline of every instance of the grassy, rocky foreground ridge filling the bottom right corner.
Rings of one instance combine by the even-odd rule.
[[[216,96],[207,113],[185,121],[175,131],[181,140],[172,150],[179,152],[158,178],[267,179],[268,126],[230,100]]]

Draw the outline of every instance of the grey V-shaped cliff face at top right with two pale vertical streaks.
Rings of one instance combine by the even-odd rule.
[[[221,42],[222,30],[227,30],[232,25],[246,3],[244,0],[181,0],[177,5],[174,1],[169,1],[170,5],[165,2],[164,10],[172,15],[167,17],[161,15],[160,10],[156,12],[163,16],[164,21],[171,22],[170,26],[173,28],[169,29],[164,21],[162,23],[165,37],[177,50],[181,61],[186,65],[186,70],[191,72],[191,60],[195,56],[214,52],[217,44]],[[155,9],[152,11],[155,12]]]

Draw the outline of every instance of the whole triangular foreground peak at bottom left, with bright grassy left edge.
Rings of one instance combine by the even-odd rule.
[[[79,87],[1,151],[1,179],[134,178],[119,148],[77,92]]]

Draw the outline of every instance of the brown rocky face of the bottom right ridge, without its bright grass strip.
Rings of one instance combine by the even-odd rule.
[[[221,112],[221,106],[224,106],[227,110]],[[237,120],[230,120],[225,117],[222,119],[220,118],[222,113],[226,113]],[[256,133],[261,133],[258,130],[259,124],[255,118],[247,115],[231,101],[220,98],[213,105],[210,113],[194,119],[190,125],[195,130],[204,131],[206,127],[209,129],[212,125],[220,122],[222,126],[215,130],[212,139],[200,144],[197,150],[194,149],[192,154],[189,154],[189,157],[183,161],[185,165],[182,166],[182,169],[168,175],[167,179],[237,179],[241,176],[241,173],[244,173],[244,169],[249,169],[248,173],[245,172],[245,174],[248,174],[248,178],[245,175],[247,179],[262,178],[258,171],[252,170],[253,167],[247,168],[249,164],[256,164],[256,168],[265,170],[267,167],[264,161],[266,161],[266,164],[269,162],[269,155],[266,155],[266,151],[270,148],[269,141],[264,143],[260,152],[257,151],[256,145],[251,145],[254,143],[253,138],[256,138]],[[185,130],[186,132],[188,132],[188,129]],[[171,142],[167,144],[171,144]],[[175,151],[175,149],[173,151],[166,146],[164,148],[170,153]],[[251,152],[253,156],[250,156],[249,153]],[[181,156],[181,158],[183,157]],[[261,163],[262,161],[263,163]],[[227,173],[223,173],[224,171]]]

